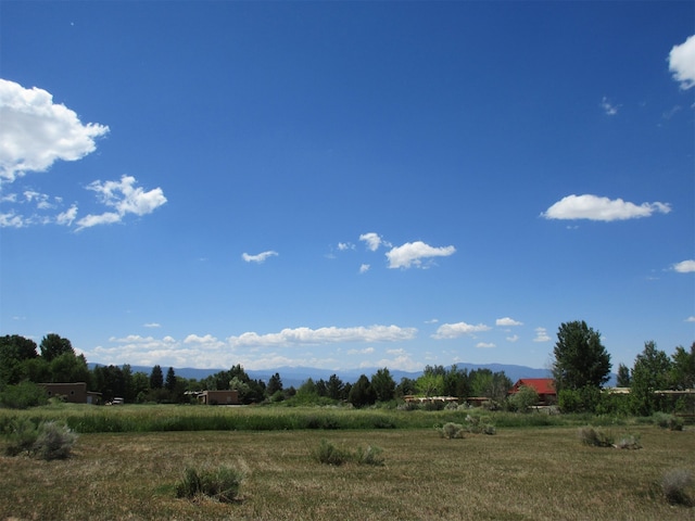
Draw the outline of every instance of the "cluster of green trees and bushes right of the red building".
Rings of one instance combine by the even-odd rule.
[[[610,378],[610,355],[601,333],[584,321],[560,325],[554,348],[553,376],[558,404],[565,411],[621,412],[648,416],[688,407],[693,397],[658,391],[684,391],[695,387],[695,343],[682,346],[669,357],[654,341],[645,342],[632,369],[618,366],[618,386],[629,387],[627,395],[602,393]],[[691,405],[692,406],[692,405]]]

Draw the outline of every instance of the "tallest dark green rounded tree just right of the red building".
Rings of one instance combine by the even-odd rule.
[[[558,393],[598,389],[610,378],[610,355],[601,342],[601,333],[583,320],[560,325],[553,353],[553,376]]]

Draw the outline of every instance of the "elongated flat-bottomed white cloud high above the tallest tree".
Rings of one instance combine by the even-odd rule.
[[[653,213],[668,214],[671,207],[667,203],[642,203],[636,205],[622,199],[610,200],[598,195],[567,195],[553,204],[541,216],[546,219],[590,219],[626,220],[649,217]]]

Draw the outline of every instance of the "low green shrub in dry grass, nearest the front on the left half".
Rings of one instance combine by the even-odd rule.
[[[207,496],[220,503],[238,499],[243,473],[230,467],[198,471],[187,468],[184,478],[176,484],[176,497],[193,499]]]

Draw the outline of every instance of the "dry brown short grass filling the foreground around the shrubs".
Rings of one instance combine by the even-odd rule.
[[[695,431],[631,431],[643,449],[587,447],[576,428],[85,434],[65,461],[0,458],[0,519],[693,519],[660,480],[695,470]],[[321,439],[378,446],[386,466],[320,465]],[[240,503],[175,497],[187,466],[223,463],[247,475]]]

